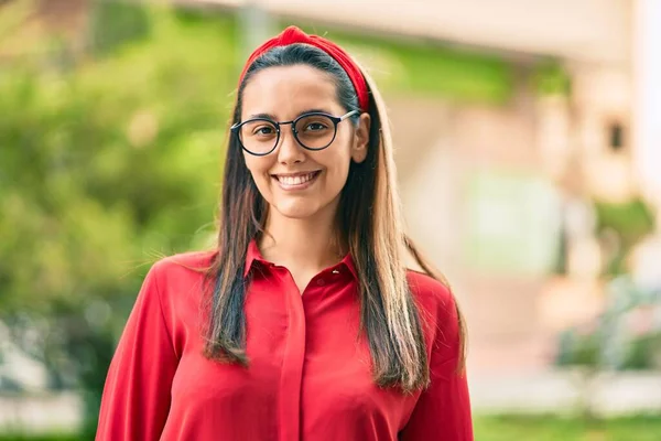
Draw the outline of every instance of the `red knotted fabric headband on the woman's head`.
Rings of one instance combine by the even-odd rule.
[[[349,79],[354,84],[354,88],[356,89],[356,95],[358,95],[358,104],[362,111],[368,111],[369,109],[369,97],[367,94],[367,83],[365,82],[365,77],[360,72],[358,65],[351,60],[349,54],[347,54],[342,47],[337,44],[333,43],[329,40],[326,40],[318,35],[307,35],[305,32],[301,31],[296,26],[289,26],[278,36],[267,41],[261,46],[254,50],[252,54],[248,57],[246,62],[246,66],[243,67],[243,72],[241,72],[241,76],[239,77],[239,85],[243,82],[243,76],[246,76],[246,72],[248,68],[254,63],[257,58],[259,58],[264,53],[269,52],[271,49],[275,46],[288,46],[294,43],[305,43],[312,46],[318,47],[328,55],[330,55],[340,66],[345,69]]]

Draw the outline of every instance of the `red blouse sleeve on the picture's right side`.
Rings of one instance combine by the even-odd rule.
[[[459,321],[452,295],[440,316],[430,361],[431,385],[423,390],[401,441],[473,441],[465,370],[458,372]]]

